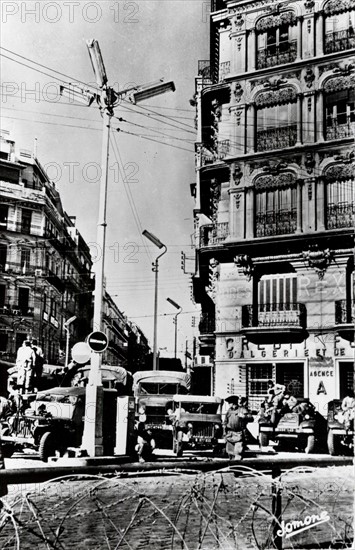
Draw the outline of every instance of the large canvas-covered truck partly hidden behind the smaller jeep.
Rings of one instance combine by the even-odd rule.
[[[157,447],[172,448],[173,427],[167,404],[174,395],[188,394],[190,385],[190,375],[181,371],[149,370],[133,375],[136,419],[145,423]]]

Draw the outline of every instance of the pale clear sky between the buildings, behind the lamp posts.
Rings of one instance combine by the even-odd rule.
[[[159,260],[158,302],[158,347],[165,356],[173,356],[177,312],[167,297],[183,308],[179,353],[186,340],[192,349],[192,317],[198,324],[190,278],[180,266],[181,251],[194,255],[190,184],[195,181],[196,133],[189,99],[198,60],[209,58],[208,9],[209,2],[201,0],[1,2],[1,128],[21,149],[33,150],[36,138],[37,158],[55,182],[64,209],[76,216],[94,266],[102,119],[95,104],[61,98],[59,85],[75,80],[94,85],[86,47],[91,38],[99,41],[114,89],[160,78],[175,82],[174,93],[139,106],[126,99],[115,109],[107,202],[107,290],[151,345],[151,267],[160,251],[142,230],[167,246]]]

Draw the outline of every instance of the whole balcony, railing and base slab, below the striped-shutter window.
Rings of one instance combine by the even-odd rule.
[[[250,339],[263,336],[288,341],[304,335],[306,308],[298,302],[268,303],[242,306],[242,332]],[[267,341],[267,340],[266,340]]]

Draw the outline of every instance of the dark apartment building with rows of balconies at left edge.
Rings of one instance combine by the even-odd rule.
[[[77,317],[71,344],[90,332],[90,251],[38,159],[16,150],[6,131],[0,144],[0,359],[13,361],[31,336],[58,364],[64,322]]]

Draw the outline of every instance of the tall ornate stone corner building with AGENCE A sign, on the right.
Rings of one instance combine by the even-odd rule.
[[[199,63],[194,298],[213,393],[353,385],[355,4],[214,0]]]

